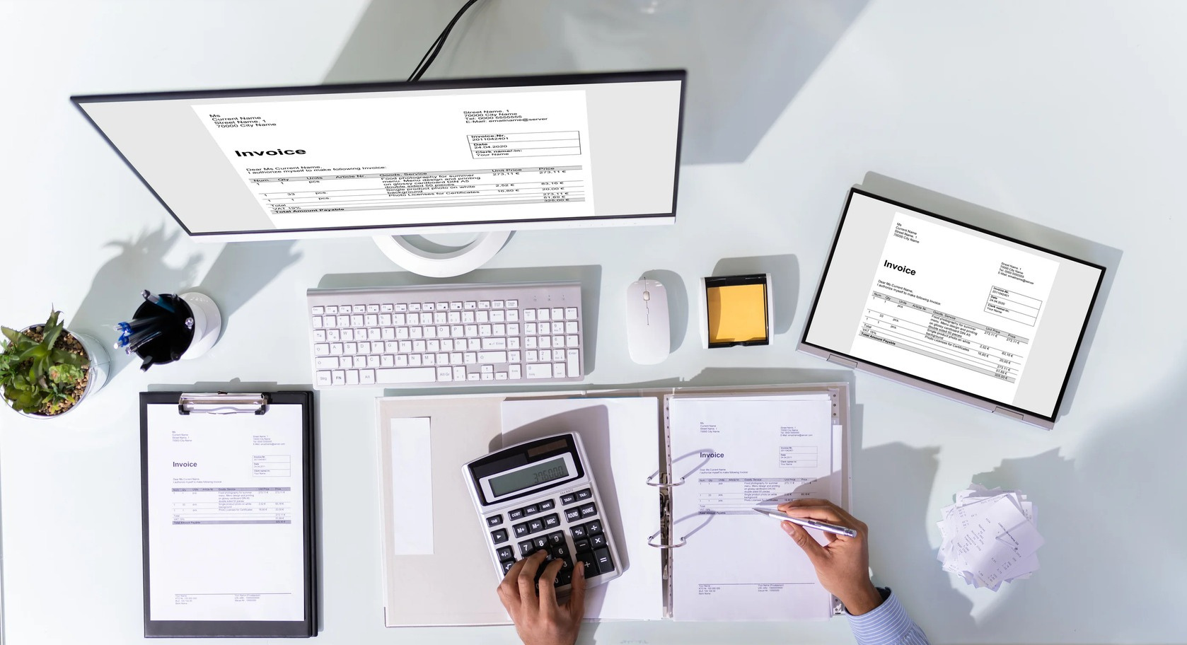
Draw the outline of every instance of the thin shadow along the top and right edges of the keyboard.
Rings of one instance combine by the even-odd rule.
[[[602,267],[597,264],[585,264],[576,267],[533,267],[525,269],[477,269],[465,275],[450,279],[450,283],[496,283],[504,282],[561,282],[577,280],[582,283],[582,322],[585,330],[582,338],[585,339],[585,373],[594,371],[597,362],[597,326],[598,305],[602,300]],[[317,287],[320,289],[347,289],[347,288],[383,288],[383,287],[412,287],[433,286],[442,281],[434,277],[425,277],[408,272],[391,273],[351,273],[351,274],[328,274],[322,277]],[[578,388],[580,385],[577,385]],[[565,390],[575,389],[569,384]],[[516,391],[516,388],[490,388],[489,391]],[[523,390],[532,391],[533,388],[525,387]],[[457,390],[446,390],[457,391]],[[468,390],[469,391],[469,390]],[[474,390],[482,392],[485,390]],[[420,390],[421,394],[443,394],[440,390]]]

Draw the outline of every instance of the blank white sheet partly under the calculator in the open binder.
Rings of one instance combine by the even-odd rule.
[[[573,432],[582,438],[594,462],[594,480],[608,506],[604,523],[614,531],[620,556],[627,558],[628,567],[617,579],[589,590],[585,618],[664,618],[660,551],[647,545],[660,522],[659,492],[646,484],[660,465],[658,401],[627,397],[507,401],[502,414],[504,445]]]

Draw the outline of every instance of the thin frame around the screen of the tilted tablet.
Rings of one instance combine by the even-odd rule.
[[[812,321],[815,319],[817,305],[820,302],[820,294],[824,292],[825,280],[827,280],[827,277],[829,277],[829,270],[832,267],[833,254],[837,251],[837,243],[840,241],[840,231],[844,230],[844,228],[845,228],[845,217],[849,215],[849,206],[852,203],[855,194],[865,196],[865,197],[869,197],[871,199],[876,199],[878,202],[883,202],[883,203],[887,203],[887,204],[890,204],[890,205],[894,205],[894,206],[897,206],[897,207],[901,207],[901,209],[907,209],[908,211],[913,211],[913,212],[918,212],[918,213],[921,213],[921,215],[926,215],[928,217],[934,217],[934,218],[940,219],[942,222],[947,222],[950,224],[959,226],[960,229],[967,229],[967,230],[971,230],[971,231],[977,231],[977,232],[980,232],[980,234],[989,235],[991,237],[1004,240],[1007,242],[1013,242],[1015,244],[1020,244],[1022,247],[1027,247],[1027,248],[1030,248],[1030,249],[1034,249],[1034,250],[1037,250],[1037,251],[1042,251],[1045,254],[1053,255],[1055,257],[1060,257],[1060,258],[1064,258],[1064,260],[1077,262],[1079,264],[1084,264],[1086,267],[1090,267],[1090,268],[1093,268],[1093,269],[1097,269],[1097,270],[1100,272],[1100,274],[1097,276],[1097,283],[1096,283],[1096,286],[1092,289],[1092,299],[1088,301],[1088,306],[1085,309],[1084,321],[1080,325],[1080,333],[1079,333],[1079,336],[1075,339],[1075,346],[1072,349],[1072,356],[1068,358],[1067,371],[1064,373],[1064,382],[1060,384],[1059,396],[1055,398],[1055,404],[1052,407],[1052,411],[1050,411],[1049,415],[1042,414],[1042,413],[1036,411],[1036,410],[1029,410],[1029,409],[1026,409],[1026,408],[1021,408],[1021,407],[1015,405],[1013,403],[1007,403],[1007,402],[1003,402],[1003,401],[997,401],[997,400],[990,398],[988,396],[977,395],[977,394],[973,394],[973,392],[970,392],[970,391],[966,391],[966,390],[961,390],[960,388],[956,388],[953,385],[947,385],[947,384],[940,383],[938,381],[932,381],[929,378],[923,378],[923,377],[920,377],[920,376],[916,376],[916,375],[913,375],[913,373],[909,373],[909,372],[906,372],[906,371],[902,371],[902,370],[896,370],[894,368],[889,368],[889,366],[883,365],[881,363],[875,363],[875,362],[865,359],[865,358],[859,358],[859,357],[853,356],[853,355],[848,353],[848,352],[834,350],[832,347],[825,347],[824,345],[819,345],[819,344],[810,343],[808,341],[808,332],[812,328]],[[1041,419],[1041,420],[1043,420],[1043,421],[1046,421],[1048,423],[1054,423],[1055,422],[1055,417],[1059,415],[1060,407],[1064,403],[1064,395],[1067,392],[1067,384],[1068,384],[1068,382],[1072,378],[1072,370],[1074,369],[1077,360],[1080,359],[1080,347],[1084,344],[1084,336],[1085,336],[1085,333],[1086,333],[1086,331],[1088,328],[1088,321],[1092,319],[1092,314],[1096,311],[1097,298],[1100,295],[1100,285],[1104,282],[1105,270],[1106,270],[1105,267],[1102,267],[1100,264],[1097,264],[1094,262],[1088,262],[1087,260],[1081,260],[1079,257],[1073,257],[1071,255],[1067,255],[1067,254],[1064,254],[1064,253],[1060,253],[1060,251],[1056,251],[1056,250],[1053,250],[1053,249],[1043,248],[1043,247],[1040,247],[1037,244],[1032,244],[1029,242],[1024,242],[1022,240],[1017,240],[1017,238],[1010,237],[1008,235],[1003,235],[1003,234],[995,232],[995,231],[991,231],[991,230],[988,230],[988,229],[983,229],[980,226],[977,226],[977,225],[973,225],[973,224],[969,224],[966,222],[960,222],[960,221],[953,219],[951,217],[945,217],[942,215],[934,213],[934,212],[920,209],[919,206],[912,206],[909,204],[903,204],[902,202],[897,202],[895,199],[890,199],[890,198],[881,196],[881,194],[875,194],[872,192],[869,192],[869,191],[865,191],[865,190],[862,190],[862,189],[858,189],[858,187],[853,186],[853,187],[849,189],[849,194],[845,197],[845,206],[840,211],[840,221],[837,223],[837,231],[833,234],[832,245],[829,248],[829,257],[825,261],[824,270],[820,274],[820,282],[817,285],[815,295],[813,295],[813,298],[812,298],[812,308],[808,309],[807,321],[804,324],[804,333],[800,336],[800,350],[802,351],[804,347],[812,347],[812,349],[815,349],[815,350],[820,350],[823,352],[829,352],[830,355],[845,358],[845,359],[848,359],[850,362],[855,362],[857,364],[857,369],[862,369],[863,371],[869,371],[870,373],[876,373],[878,376],[886,376],[886,373],[882,373],[882,372],[887,372],[889,375],[894,375],[895,376],[895,378],[894,378],[895,381],[906,383],[908,385],[920,384],[920,385],[926,385],[927,387],[926,388],[927,391],[935,391],[935,389],[939,389],[941,391],[937,392],[937,394],[950,392],[951,395],[957,395],[958,396],[957,397],[958,401],[971,402],[969,400],[973,400],[973,401],[979,401],[979,402],[988,403],[990,405],[996,405],[998,408],[1003,408],[1003,409],[1007,409],[1007,410],[1013,410],[1013,411],[1015,411],[1017,414],[1024,415],[1023,421],[1028,421],[1028,419],[1026,419],[1026,417],[1033,416],[1033,417]],[[875,369],[874,370],[869,370],[869,369],[865,369],[865,366],[875,368]],[[992,408],[989,408],[989,409],[992,410]]]

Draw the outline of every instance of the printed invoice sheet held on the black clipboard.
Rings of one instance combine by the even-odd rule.
[[[305,619],[300,405],[148,405],[148,619]]]

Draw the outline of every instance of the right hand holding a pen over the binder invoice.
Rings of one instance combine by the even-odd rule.
[[[821,547],[802,526],[780,523],[812,561],[820,585],[837,596],[849,613],[864,614],[882,604],[882,594],[870,582],[869,529],[863,522],[825,499],[796,499],[780,504],[779,510],[792,517],[819,519],[856,530],[857,537],[825,532],[829,543]]]

